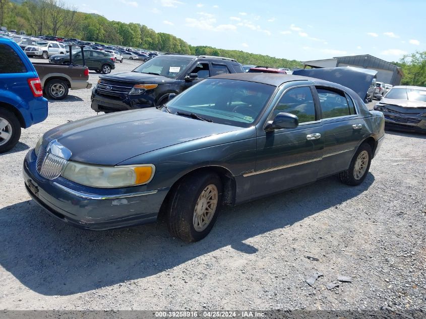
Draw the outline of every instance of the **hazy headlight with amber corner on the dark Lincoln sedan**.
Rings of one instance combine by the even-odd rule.
[[[68,162],[62,176],[76,183],[100,188],[146,184],[154,177],[155,166],[98,166]]]

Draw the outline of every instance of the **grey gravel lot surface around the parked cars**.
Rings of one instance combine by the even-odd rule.
[[[76,229],[30,200],[27,150],[87,116],[90,90],[70,91],[0,155],[0,309],[426,310],[426,135],[387,132],[360,186],[330,177],[225,208],[209,236],[185,244],[164,224]],[[352,282],[328,290],[340,275]]]

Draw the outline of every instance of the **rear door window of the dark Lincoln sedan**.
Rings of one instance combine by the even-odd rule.
[[[349,105],[345,94],[340,90],[317,87],[323,118],[333,118],[356,114],[352,101]]]

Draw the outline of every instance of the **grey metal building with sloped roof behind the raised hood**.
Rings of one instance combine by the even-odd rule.
[[[400,85],[404,76],[401,68],[370,54],[337,56],[324,60],[305,61],[303,65],[311,68],[356,67],[376,70],[377,81],[391,85]]]

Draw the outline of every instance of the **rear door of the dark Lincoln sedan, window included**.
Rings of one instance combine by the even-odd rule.
[[[366,135],[363,120],[350,96],[340,89],[316,86],[324,129],[324,154],[318,177],[349,167],[355,148]]]

